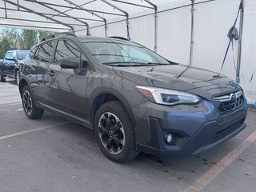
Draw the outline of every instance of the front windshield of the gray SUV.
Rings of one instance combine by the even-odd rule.
[[[83,45],[105,65],[145,66],[170,64],[165,58],[155,54],[152,50],[132,43],[83,42]]]

